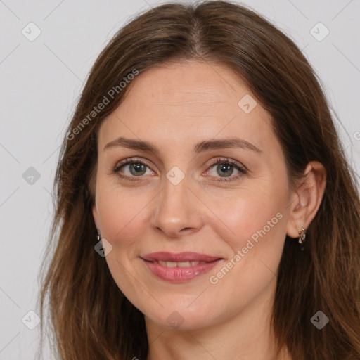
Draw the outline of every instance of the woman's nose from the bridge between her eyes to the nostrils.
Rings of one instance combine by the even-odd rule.
[[[194,198],[191,179],[179,167],[170,169],[156,203],[153,226],[168,236],[176,236],[183,229],[198,230],[201,217]]]

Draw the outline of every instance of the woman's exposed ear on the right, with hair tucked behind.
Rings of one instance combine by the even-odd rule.
[[[319,210],[326,187],[326,169],[321,162],[311,161],[304,170],[304,177],[293,190],[287,235],[298,238],[302,228],[307,229]]]

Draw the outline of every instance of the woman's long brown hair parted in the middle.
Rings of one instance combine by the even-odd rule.
[[[46,335],[58,358],[146,359],[143,314],[94,251],[96,136],[129,89],[119,86],[124,78],[184,59],[227,65],[245,81],[272,117],[290,181],[311,160],[326,168],[326,190],[304,251],[293,239],[285,240],[272,321],[278,352],[287,347],[294,360],[360,359],[358,184],[330,105],[294,42],[268,20],[229,1],[152,8],[122,27],[91,68],[60,151],[56,208],[41,266],[46,274],[40,314],[43,318],[49,310]],[[91,113],[104,96],[108,104]],[[317,311],[330,319],[322,330],[310,321]],[[44,333],[41,324],[41,346]]]

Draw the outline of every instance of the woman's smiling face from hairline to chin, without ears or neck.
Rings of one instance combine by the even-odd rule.
[[[269,113],[220,65],[172,63],[127,86],[98,132],[93,207],[122,293],[167,327],[270,309],[291,193]]]

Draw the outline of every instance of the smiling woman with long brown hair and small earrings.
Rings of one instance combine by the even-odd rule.
[[[356,185],[282,32],[226,1],[139,15],[60,154],[58,358],[360,359]]]

